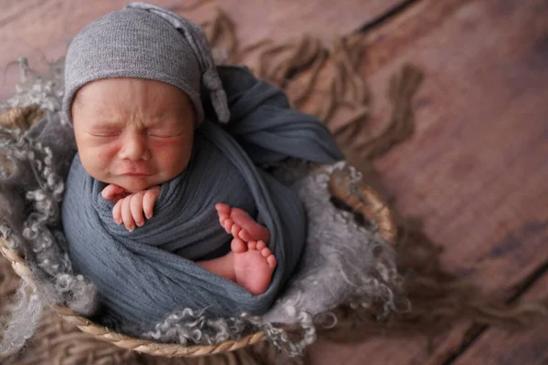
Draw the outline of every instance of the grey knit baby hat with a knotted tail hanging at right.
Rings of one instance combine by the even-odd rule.
[[[182,89],[195,106],[197,123],[204,120],[204,87],[218,120],[227,122],[230,117],[204,32],[162,7],[131,3],[74,37],[65,61],[63,113],[68,121],[78,89],[100,78],[148,78]]]

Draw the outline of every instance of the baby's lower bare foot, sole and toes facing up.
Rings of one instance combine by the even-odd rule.
[[[255,296],[264,293],[269,288],[276,257],[263,241],[249,241],[246,245],[240,238],[234,238],[231,248],[237,284]]]

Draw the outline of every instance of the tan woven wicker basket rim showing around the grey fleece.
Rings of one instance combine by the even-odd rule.
[[[8,113],[0,115],[0,123],[5,126],[30,126],[38,118],[36,108],[26,110],[10,110]],[[33,120],[29,120],[33,118]],[[22,119],[22,120],[21,120]],[[379,229],[379,234],[383,235],[388,242],[395,241],[395,224],[390,209],[387,207],[380,195],[365,183],[352,183],[350,173],[346,171],[334,172],[329,183],[330,193],[337,201],[344,203],[348,209],[354,213],[362,214],[365,220],[374,221]],[[2,255],[10,261],[16,274],[21,276],[27,283],[36,286],[34,279],[23,257],[9,248],[5,239],[0,237],[0,251]],[[87,318],[79,316],[74,311],[56,306],[53,308],[61,318],[75,325],[83,332],[91,336],[110,342],[113,345],[123,349],[132,349],[142,353],[148,353],[164,357],[198,357],[204,355],[213,355],[220,352],[241,349],[248,345],[253,345],[264,339],[263,332],[257,332],[234,341],[229,340],[216,345],[209,346],[184,346],[181,344],[156,343],[147,339],[133,339],[111,331],[108,328],[100,327]]]

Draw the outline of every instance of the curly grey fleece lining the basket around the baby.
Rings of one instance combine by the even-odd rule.
[[[53,65],[47,76],[38,76],[20,62],[24,79],[14,98],[2,108],[40,105],[47,117],[28,132],[0,129],[0,234],[10,247],[26,257],[37,287],[23,282],[11,321],[5,324],[0,350],[20,349],[37,327],[43,309],[64,305],[86,316],[96,308],[97,291],[85,277],[74,273],[67,244],[60,230],[59,208],[68,165],[75,152],[72,130],[60,119],[63,62]],[[272,167],[271,167],[272,168]],[[400,276],[394,253],[376,234],[375,227],[356,224],[353,214],[336,209],[327,190],[329,174],[349,169],[353,179],[361,176],[345,163],[311,173],[303,162],[275,166],[280,181],[296,189],[309,214],[309,235],[300,267],[269,312],[262,317],[205,318],[200,312],[182,308],[158,323],[142,338],[184,345],[216,344],[240,339],[263,330],[279,349],[292,356],[316,339],[320,321],[337,318],[330,310],[340,304],[352,308],[381,303],[382,317],[396,310],[401,297]],[[374,255],[378,251],[385,255]],[[303,329],[296,338],[276,324],[297,324]]]

